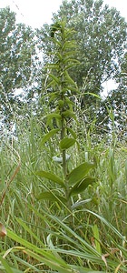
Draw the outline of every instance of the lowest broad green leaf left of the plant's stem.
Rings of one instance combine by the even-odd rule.
[[[55,193],[49,192],[49,191],[42,192],[36,198],[37,198],[37,200],[51,200],[54,202],[58,202],[60,200],[61,202],[66,204],[66,199],[64,197],[61,197],[61,196],[59,196]]]

